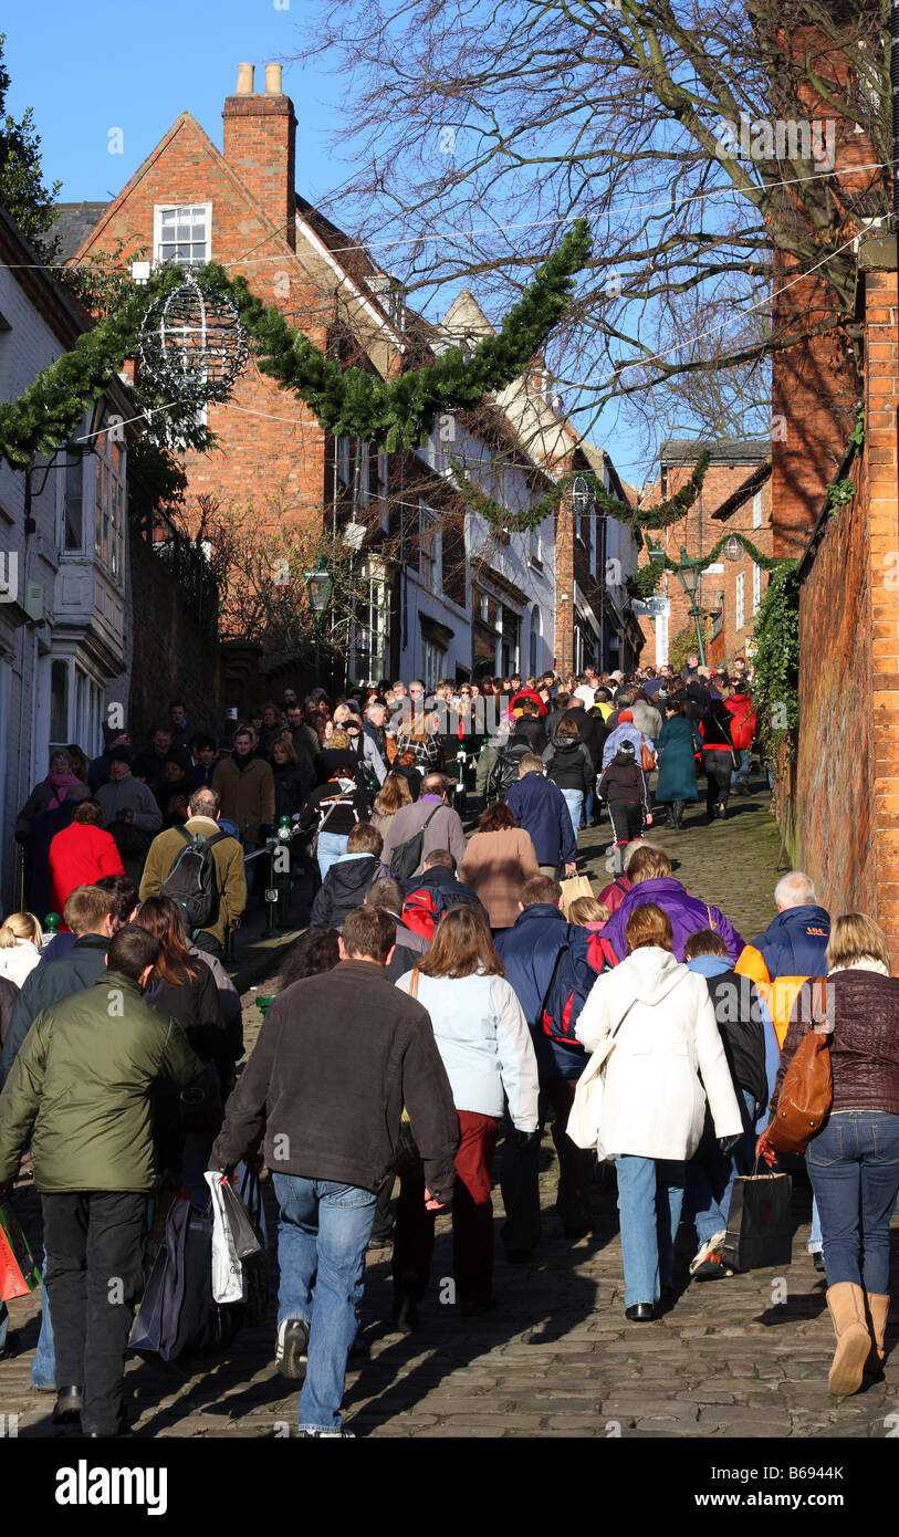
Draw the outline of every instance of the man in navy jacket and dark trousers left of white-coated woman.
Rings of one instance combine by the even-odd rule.
[[[530,1259],[539,1242],[539,1144],[549,1111],[553,1111],[553,1142],[559,1156],[559,1188],[556,1211],[567,1239],[590,1233],[593,1222],[587,1191],[593,1168],[593,1150],[579,1148],[566,1136],[576,1082],[584,1071],[587,1054],[578,1044],[570,1047],[553,1041],[542,1030],[542,1007],[553,979],[559,951],[570,944],[582,962],[586,978],[592,973],[587,961],[586,928],[566,922],[562,888],[546,875],[535,875],[521,891],[521,911],[512,925],[496,936],[496,951],[524,1011],[536,1054],[539,1074],[539,1130],[530,1142],[518,1147],[512,1137],[503,1144],[499,1185],[506,1207],[503,1243],[513,1265]]]

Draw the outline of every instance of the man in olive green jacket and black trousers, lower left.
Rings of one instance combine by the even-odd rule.
[[[203,1071],[177,1021],[143,1001],[160,947],[126,924],[108,971],[37,1016],[0,1094],[0,1194],[32,1142],[58,1397],[55,1423],[118,1436],[124,1351],[155,1185],[149,1093]],[[34,1133],[34,1136],[32,1136]]]

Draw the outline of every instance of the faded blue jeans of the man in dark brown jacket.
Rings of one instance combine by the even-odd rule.
[[[284,1319],[309,1325],[300,1429],[338,1431],[378,1197],[372,1190],[329,1179],[274,1174],[274,1180],[281,1208],[278,1325]]]

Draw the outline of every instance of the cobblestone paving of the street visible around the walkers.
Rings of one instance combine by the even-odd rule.
[[[724,907],[745,939],[775,911],[770,893],[779,839],[767,807],[767,795],[753,795],[712,827],[695,808],[684,833],[652,835],[676,855],[676,873],[688,888]],[[605,838],[604,830],[584,838],[582,864],[596,887],[605,882]],[[252,1005],[252,994],[246,1002]],[[250,1007],[250,1042],[257,1028],[258,1010]],[[550,1150],[547,1137],[544,1240],[524,1266],[506,1263],[498,1242],[496,1313],[463,1320],[455,1306],[440,1303],[440,1282],[452,1274],[446,1217],[438,1219],[432,1285],[410,1337],[389,1325],[390,1256],[369,1254],[361,1356],[344,1400],[347,1426],[357,1436],[827,1439],[888,1432],[887,1417],[899,1414],[894,1328],[884,1382],[841,1403],[827,1391],[833,1334],[824,1277],[805,1251],[810,1196],[801,1179],[795,1182],[798,1230],[790,1266],[690,1285],[693,1234],[682,1228],[678,1297],[658,1322],[633,1325],[624,1317],[609,1173],[598,1171],[593,1187],[593,1236],[567,1243],[552,1210]],[[25,1194],[32,1227],[35,1203]],[[270,1187],[267,1203],[274,1233]],[[498,1191],[495,1208],[499,1236]],[[31,1386],[38,1306],[35,1297],[11,1305],[15,1356],[0,1365],[0,1413],[18,1414],[22,1437],[68,1436],[49,1425],[52,1399]],[[275,1374],[272,1348],[269,1323],[240,1336],[227,1359],[184,1382],[132,1362],[126,1396],[137,1436],[286,1436],[297,1423],[298,1393],[286,1391],[289,1385]]]

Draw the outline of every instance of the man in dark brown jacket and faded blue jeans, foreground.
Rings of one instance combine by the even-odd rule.
[[[452,1197],[458,1116],[427,1010],[389,981],[396,925],[360,907],[340,962],[272,1004],[227,1102],[209,1167],[234,1165],[264,1127],[281,1208],[275,1365],[300,1379],[300,1431],[346,1436],[340,1405],[366,1245],[392,1177],[406,1105],[432,1210]]]

